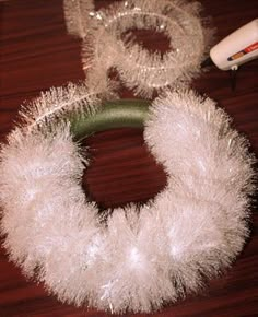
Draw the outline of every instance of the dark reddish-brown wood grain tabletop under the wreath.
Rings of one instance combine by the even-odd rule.
[[[257,0],[202,0],[213,17],[218,40],[258,16]],[[97,1],[98,5],[107,1]],[[0,1],[1,104],[0,142],[13,127],[17,109],[50,86],[82,80],[80,40],[67,35],[61,0]],[[160,37],[148,45],[165,47]],[[211,69],[195,81],[195,87],[216,99],[234,118],[235,126],[250,139],[258,153],[258,60],[243,66],[237,90],[232,92],[228,73]],[[125,91],[125,96],[130,93]],[[142,131],[119,129],[87,140],[93,162],[84,187],[101,208],[146,201],[161,190],[166,177],[143,144]],[[0,176],[1,177],[1,176]],[[153,316],[255,317],[258,316],[258,216],[253,214],[251,236],[233,268],[209,287]],[[26,281],[20,269],[0,249],[0,317],[108,316],[75,308],[49,296],[43,285]],[[127,315],[131,316],[131,315]],[[146,316],[146,315],[137,315]]]

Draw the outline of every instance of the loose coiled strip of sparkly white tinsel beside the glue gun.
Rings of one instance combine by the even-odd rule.
[[[115,68],[122,83],[143,97],[200,72],[213,34],[200,11],[199,2],[188,0],[115,1],[99,11],[94,1],[64,0],[68,32],[83,39],[89,85],[105,90],[108,70]],[[133,30],[162,33],[168,51],[150,52],[133,39]]]

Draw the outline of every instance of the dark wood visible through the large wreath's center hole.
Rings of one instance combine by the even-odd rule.
[[[144,144],[142,130],[115,129],[84,142],[91,162],[82,187],[99,210],[145,203],[163,190],[166,174]]]

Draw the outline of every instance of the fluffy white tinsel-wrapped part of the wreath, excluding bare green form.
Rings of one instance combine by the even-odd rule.
[[[150,108],[144,139],[167,186],[106,223],[81,188],[84,158],[69,125],[16,129],[2,146],[5,248],[59,300],[150,312],[196,292],[242,250],[253,157],[225,113],[194,92],[167,92]]]

